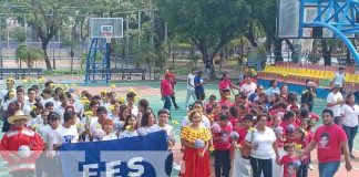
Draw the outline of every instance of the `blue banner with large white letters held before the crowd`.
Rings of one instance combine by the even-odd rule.
[[[167,176],[165,132],[115,140],[65,144],[60,148],[65,177]]]

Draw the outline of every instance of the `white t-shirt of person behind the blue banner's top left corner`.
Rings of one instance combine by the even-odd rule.
[[[60,126],[59,129],[55,131],[55,135],[53,137],[52,145],[78,143],[78,142],[79,142],[79,133],[78,133],[75,125],[71,126],[70,128]]]

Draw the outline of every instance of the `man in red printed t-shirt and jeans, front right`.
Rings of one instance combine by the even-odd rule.
[[[319,176],[335,176],[340,166],[341,149],[345,155],[346,169],[351,170],[348,139],[343,129],[334,123],[334,113],[326,108],[321,112],[322,124],[314,135],[302,155],[310,153],[318,144]]]

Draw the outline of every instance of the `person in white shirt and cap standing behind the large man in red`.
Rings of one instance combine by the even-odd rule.
[[[327,107],[334,112],[334,121],[336,124],[341,126],[341,114],[340,107],[343,104],[343,98],[340,93],[341,85],[339,83],[335,83],[332,91],[327,96]]]

